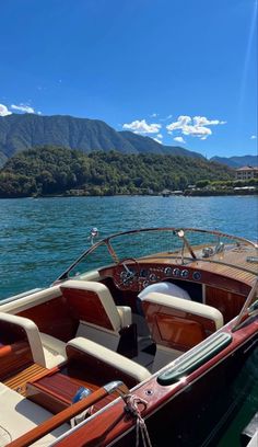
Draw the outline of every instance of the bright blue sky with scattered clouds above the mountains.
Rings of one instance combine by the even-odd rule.
[[[257,153],[257,0],[0,1],[0,115]]]

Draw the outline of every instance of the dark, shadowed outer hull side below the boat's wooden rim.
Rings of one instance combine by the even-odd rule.
[[[257,380],[257,335],[255,337],[145,420],[152,446],[218,446],[220,437]],[[250,405],[250,411],[255,413],[258,397]],[[238,428],[241,434],[244,426]],[[129,446],[133,443],[136,431],[114,445]]]

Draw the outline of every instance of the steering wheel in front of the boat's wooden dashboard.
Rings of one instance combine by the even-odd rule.
[[[120,290],[139,291],[140,267],[134,257],[121,260],[115,267],[113,279]]]

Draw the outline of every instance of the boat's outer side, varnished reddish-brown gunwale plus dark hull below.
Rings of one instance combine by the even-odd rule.
[[[194,371],[185,385],[159,387],[152,379],[133,390],[133,394],[148,401],[143,415],[153,447],[218,446],[257,380],[258,322],[242,330],[224,351]],[[258,397],[250,401],[250,414],[255,414],[257,405]],[[124,402],[115,402],[58,445],[136,445],[136,421],[124,413]],[[237,427],[237,436],[243,428],[244,425]]]

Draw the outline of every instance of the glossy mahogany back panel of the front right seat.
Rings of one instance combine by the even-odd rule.
[[[215,323],[190,311],[144,300],[143,312],[155,343],[186,351],[215,331]]]

